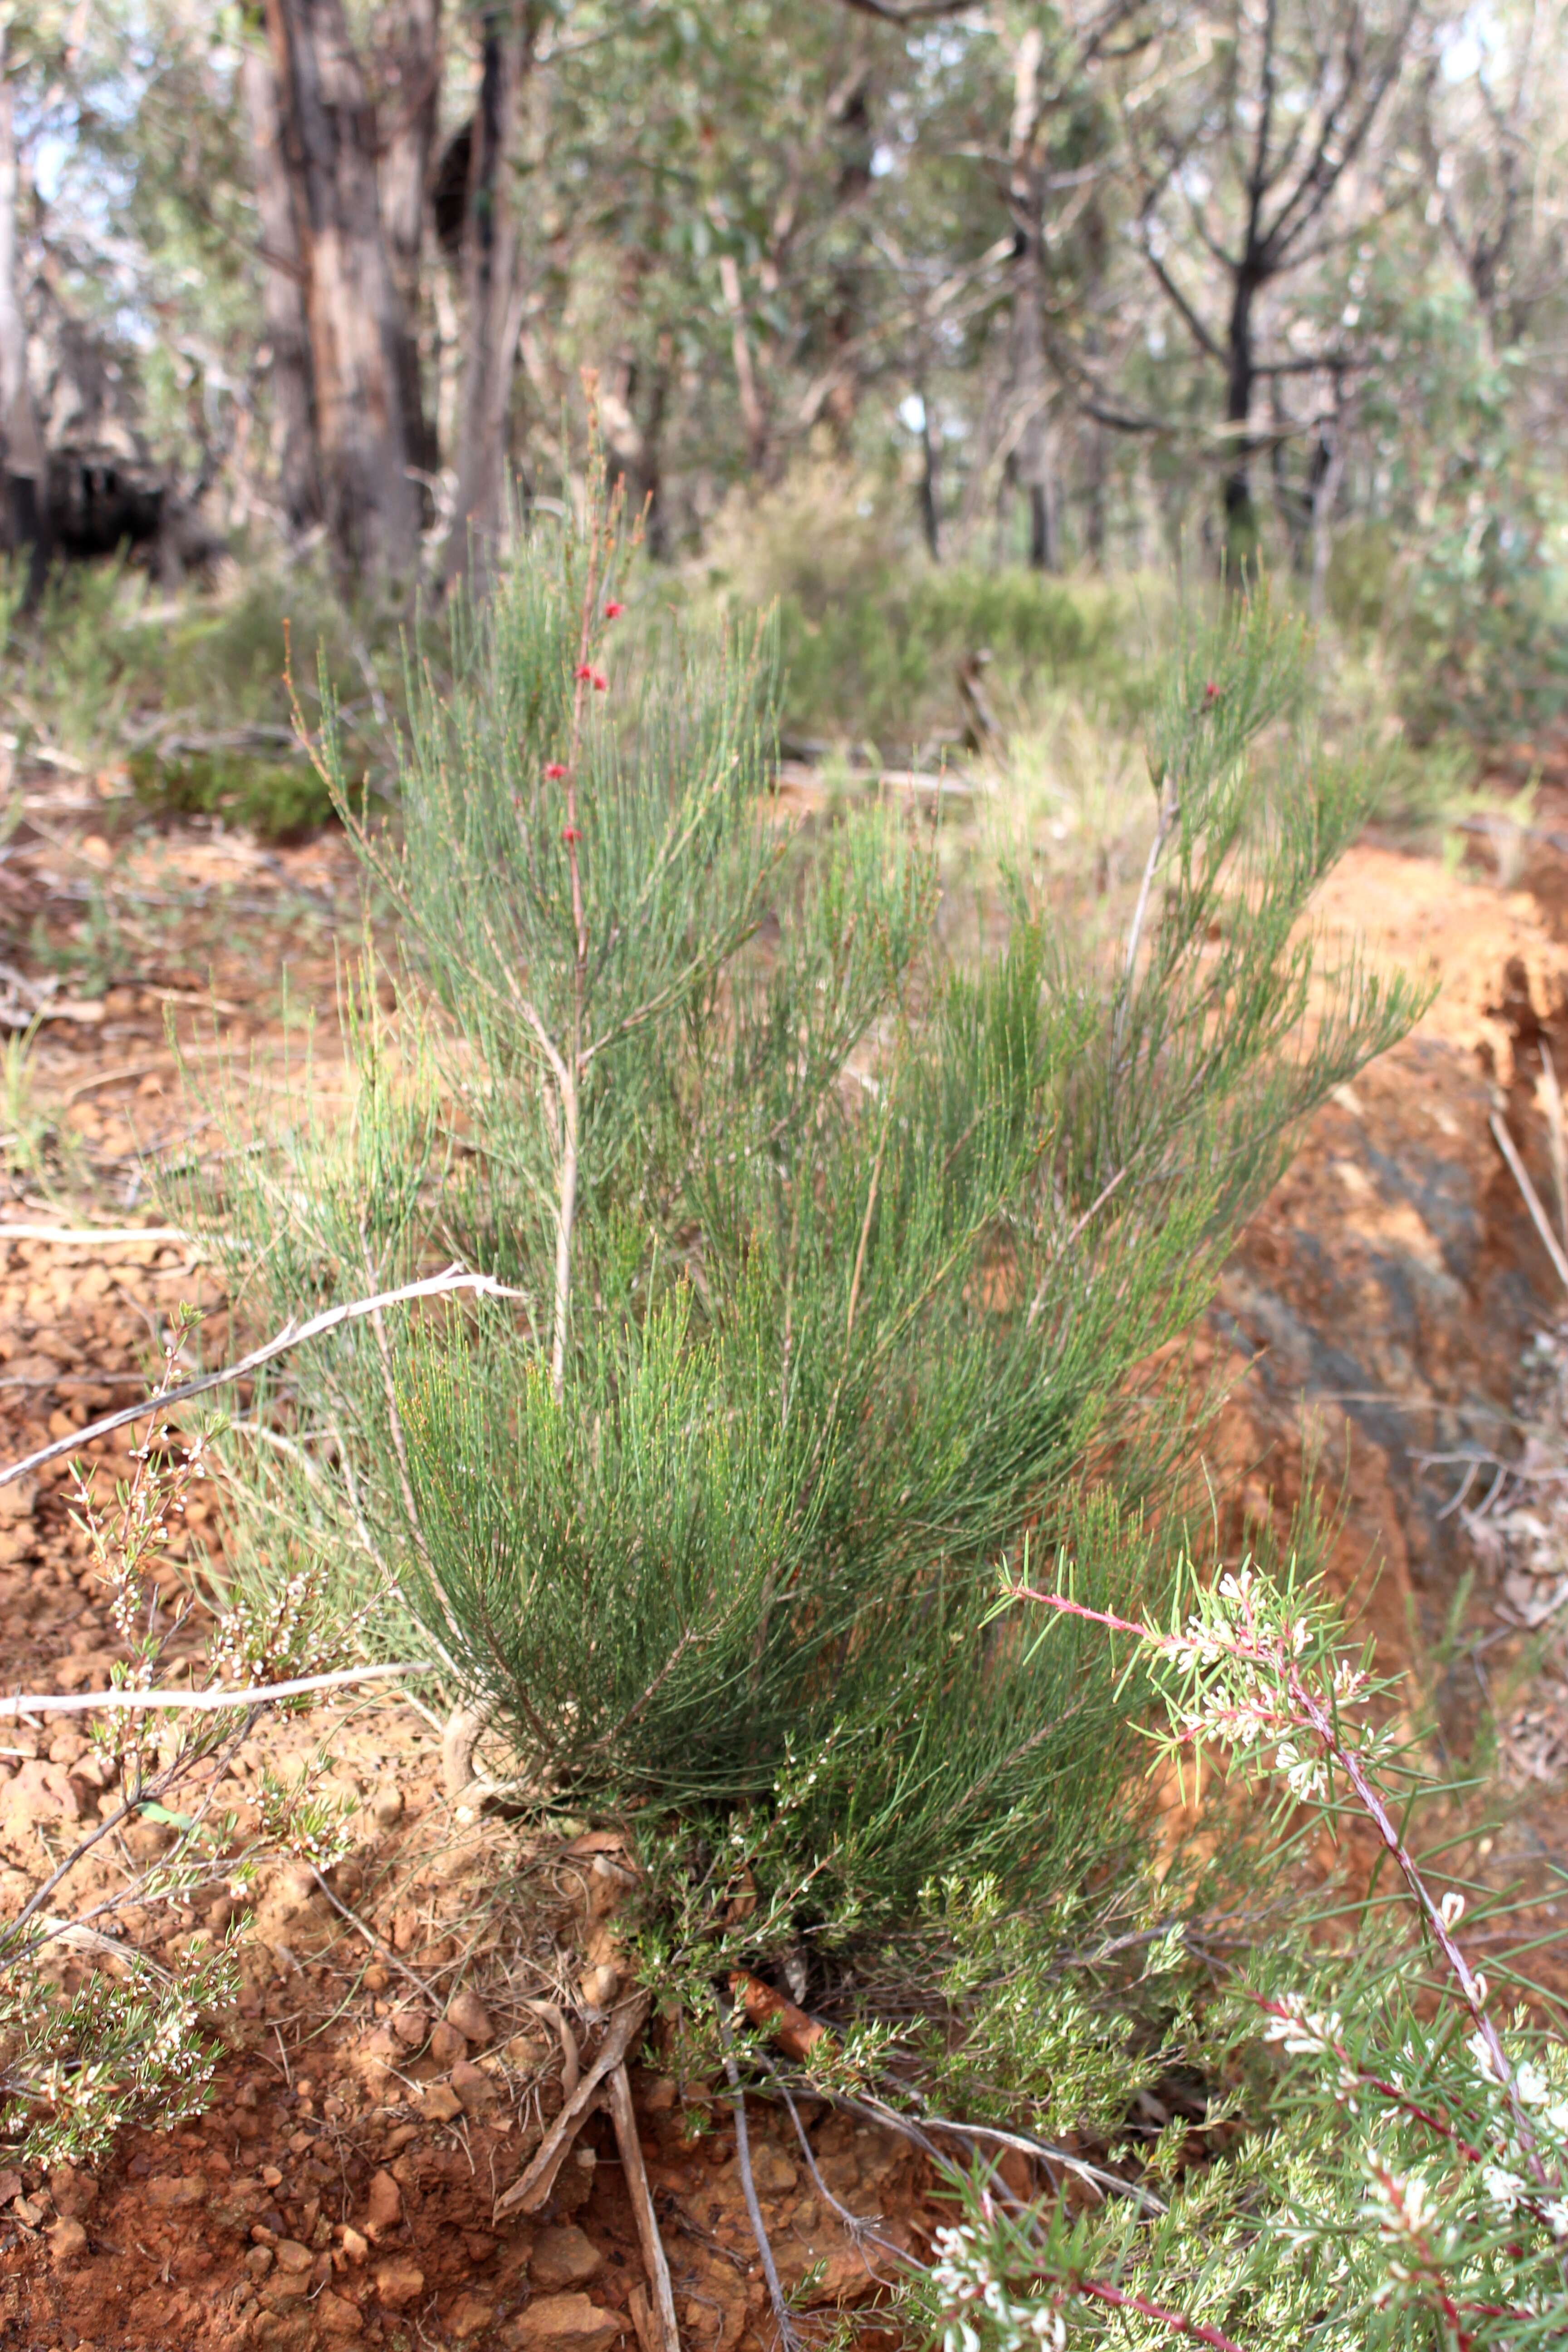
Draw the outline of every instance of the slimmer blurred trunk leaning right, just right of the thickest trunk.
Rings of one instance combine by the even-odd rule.
[[[524,0],[508,0],[484,12],[480,103],[463,219],[468,367],[458,407],[458,487],[451,536],[442,555],[447,583],[475,564],[484,569],[505,520],[508,419],[527,301],[512,174],[522,99],[534,66],[534,7]]]

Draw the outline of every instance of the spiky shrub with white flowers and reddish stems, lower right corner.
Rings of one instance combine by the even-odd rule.
[[[1009,1581],[1004,1609],[1018,1606],[1088,1621],[1065,1555],[1046,1590]],[[1354,1820],[1380,1867],[1361,1900],[1331,1891],[1316,1917],[1302,1907],[1253,1931],[1218,1966],[1201,1924],[1178,1922],[1152,1955],[1164,2018],[1140,2056],[1204,2082],[1199,2150],[1173,2119],[1140,2150],[1143,2197],[1077,2211],[1058,2194],[1004,2199],[976,2171],[912,2281],[914,2312],[947,2352],[1561,2345],[1561,2002],[1507,1964],[1507,1903],[1455,1882],[1453,1842],[1432,1858],[1415,1849],[1436,1790],[1418,1745],[1389,1729],[1401,1693],[1347,1649],[1293,1566],[1192,1581],[1164,1625],[1098,1623],[1159,1682],[1166,1752],[1227,1755],[1232,1783],[1274,1799],[1281,1832],[1295,1825],[1276,1865]],[[1060,2009],[1060,1992],[1041,1992],[1044,2011]],[[1091,2020],[1084,2039],[1105,2032]]]

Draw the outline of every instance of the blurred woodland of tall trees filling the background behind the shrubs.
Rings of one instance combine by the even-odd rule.
[[[590,367],[656,562],[835,466],[903,567],[1291,569],[1507,736],[1568,696],[1563,19],[28,0],[9,543],[407,609],[581,496]]]

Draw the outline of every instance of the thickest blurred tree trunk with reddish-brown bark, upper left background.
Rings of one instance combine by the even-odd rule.
[[[266,0],[296,191],[322,508],[339,564],[374,583],[418,560],[402,372],[407,320],[376,181],[376,120],[343,0]]]

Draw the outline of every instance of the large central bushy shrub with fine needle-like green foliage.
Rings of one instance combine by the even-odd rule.
[[[301,1381],[541,1792],[788,1813],[839,1924],[940,1870],[1060,1886],[1124,1837],[1135,1696],[1095,1639],[990,1625],[994,1562],[1034,1526],[1117,1606],[1164,1573],[1138,1498],[1180,1421],[1135,1371],[1410,1018],[1302,931],[1366,779],[1312,757],[1298,635],[1237,602],[1150,720],[1143,943],[1079,964],[1018,891],[959,969],[929,840],[776,821],[766,644],[576,675],[614,670],[611,579],[604,529],[541,532],[451,689],[411,684],[402,847],[357,840],[428,1068],[367,1035],[353,1134],[301,1143],[287,1216],[256,1169],[242,1225],[280,1305],[430,1249],[520,1291]]]

